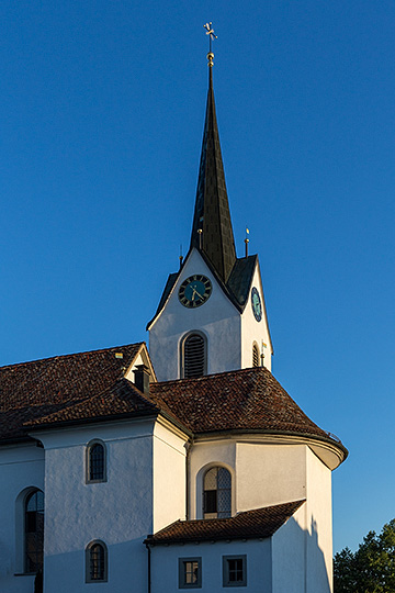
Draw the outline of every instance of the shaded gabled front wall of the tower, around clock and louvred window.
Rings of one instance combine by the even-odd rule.
[[[193,273],[210,278],[213,291],[203,305],[187,309],[178,299],[178,290]],[[241,368],[240,314],[196,249],[191,251],[165,309],[149,329],[149,355],[158,381],[180,378],[180,340],[192,329],[199,329],[207,337],[208,374]]]

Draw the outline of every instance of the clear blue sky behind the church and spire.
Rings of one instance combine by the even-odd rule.
[[[189,244],[213,21],[273,372],[350,450],[335,550],[395,517],[395,4],[2,0],[0,363],[146,339]]]

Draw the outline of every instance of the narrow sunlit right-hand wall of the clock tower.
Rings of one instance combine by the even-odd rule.
[[[262,318],[260,322],[253,316],[251,306],[251,291],[256,287],[262,303]],[[241,315],[241,368],[252,367],[252,344],[257,343],[260,354],[263,353],[263,365],[271,370],[272,345],[270,340],[268,320],[266,316],[264,296],[259,264],[256,266],[252,284],[248,295],[247,305]],[[266,345],[266,347],[263,346]],[[259,361],[260,363],[260,361]]]

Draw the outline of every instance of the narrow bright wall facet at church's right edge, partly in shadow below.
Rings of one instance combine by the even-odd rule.
[[[307,449],[307,593],[332,591],[331,471]]]

